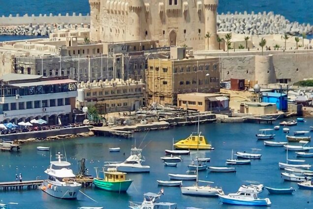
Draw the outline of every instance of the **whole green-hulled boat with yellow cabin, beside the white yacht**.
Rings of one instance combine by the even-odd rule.
[[[126,180],[126,173],[118,172],[116,168],[108,168],[107,171],[102,168],[104,178],[98,176],[97,168],[95,168],[96,178],[94,178],[94,186],[107,191],[126,192],[132,180]]]

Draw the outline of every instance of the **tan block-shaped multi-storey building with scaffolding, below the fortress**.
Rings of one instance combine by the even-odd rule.
[[[171,59],[150,59],[147,102],[177,105],[177,94],[219,92],[219,58],[186,58],[186,48],[171,48]]]

